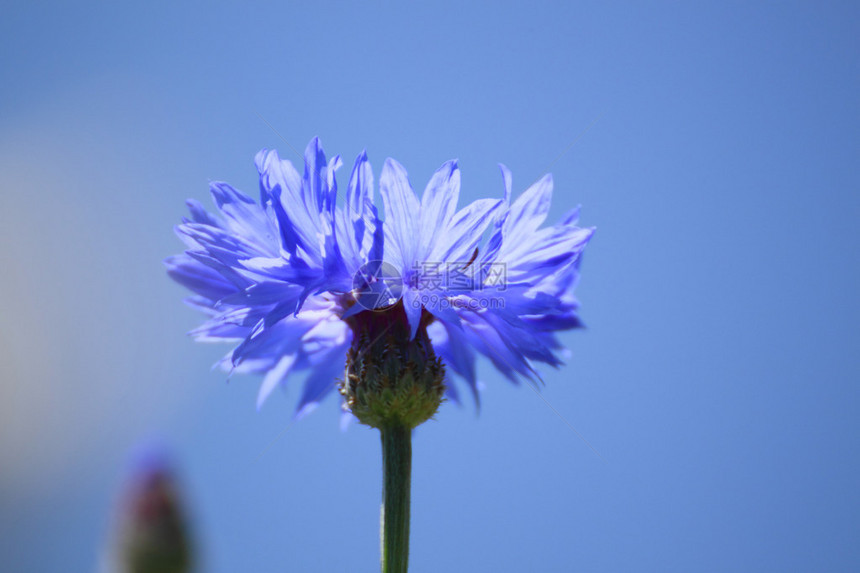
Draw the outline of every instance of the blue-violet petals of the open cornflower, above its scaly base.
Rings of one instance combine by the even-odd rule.
[[[477,400],[477,354],[513,381],[537,379],[535,362],[560,364],[555,332],[581,326],[573,289],[593,229],[577,226],[578,210],[542,227],[549,175],[512,201],[510,172],[501,166],[504,196],[457,210],[455,161],[419,200],[405,169],[388,159],[379,181],[383,222],[365,153],[342,205],[340,158],[326,161],[313,139],[304,160],[300,176],[277,152],[258,153],[259,202],[212,183],[218,213],[189,200],[191,216],[177,226],[188,250],[166,261],[170,276],[194,293],[188,302],[209,316],[192,331],[195,339],[232,342],[220,365],[265,375],[258,406],[306,371],[298,415],[315,407],[343,377],[362,325],[380,317],[400,323],[402,337],[432,344],[455,401],[450,372]]]

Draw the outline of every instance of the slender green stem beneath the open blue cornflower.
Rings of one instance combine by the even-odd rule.
[[[406,573],[409,566],[409,489],[412,430],[387,426],[382,434],[382,573]]]

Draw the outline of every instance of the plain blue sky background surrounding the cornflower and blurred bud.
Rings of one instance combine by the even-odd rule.
[[[853,2],[7,2],[0,569],[95,571],[160,440],[201,571],[377,570],[376,433],[257,413],[161,264],[185,198],[319,135],[418,188],[458,157],[464,202],[549,170],[598,227],[557,414],[484,364],[418,431],[411,571],[860,570],[858,38]]]

